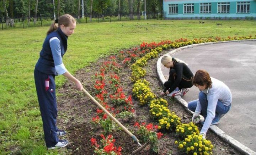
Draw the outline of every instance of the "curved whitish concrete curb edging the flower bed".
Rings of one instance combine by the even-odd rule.
[[[166,55],[172,55],[172,54],[174,54],[174,53],[176,53],[178,51],[181,51],[183,49],[193,48],[193,47],[196,47],[196,46],[203,46],[203,45],[209,45],[209,44],[220,44],[220,43],[228,43],[228,42],[236,42],[236,41],[251,41],[251,40],[256,40],[256,39],[250,39],[250,40],[231,40],[231,41],[219,41],[219,42],[193,44],[193,45],[183,46],[183,47],[175,49],[175,50],[171,50]],[[157,67],[158,77],[159,77],[160,81],[162,82],[162,84],[164,84],[166,82],[166,79],[164,77],[164,74],[161,71],[161,58],[162,58],[162,56],[158,59],[156,67]],[[194,113],[194,112],[190,111],[187,108],[188,103],[185,100],[183,100],[180,96],[175,96],[175,99],[177,100],[178,103],[182,104],[188,112],[190,112],[191,114]],[[203,120],[203,116],[201,116],[200,120],[201,121]],[[215,126],[215,125],[210,126],[210,129],[215,134],[217,134],[220,138],[222,138],[225,142],[229,143],[235,149],[240,151],[242,154],[245,154],[245,155],[256,155],[256,152],[254,152],[253,150],[251,150],[250,148],[248,148],[244,144],[238,142],[238,140],[235,140],[234,138],[232,138],[229,135],[225,134],[225,132],[223,132],[217,126]]]

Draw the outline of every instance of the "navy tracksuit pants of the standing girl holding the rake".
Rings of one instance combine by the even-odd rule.
[[[55,94],[55,76],[34,70],[37,97],[41,111],[46,146],[53,147],[59,141],[57,136],[57,102]]]

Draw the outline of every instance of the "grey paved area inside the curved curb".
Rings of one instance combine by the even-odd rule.
[[[183,49],[172,55],[188,63],[191,71],[207,70],[231,90],[231,110],[217,126],[227,135],[256,151],[256,40],[208,44]],[[161,66],[165,78],[169,69]],[[199,90],[193,86],[182,98],[192,101]]]

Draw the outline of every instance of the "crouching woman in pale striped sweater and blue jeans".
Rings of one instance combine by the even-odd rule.
[[[203,138],[213,124],[219,124],[220,118],[231,107],[232,94],[227,85],[210,77],[205,70],[198,70],[194,76],[193,84],[200,90],[198,100],[188,103],[188,109],[194,112],[192,122],[200,114],[204,117],[203,127],[200,134]]]

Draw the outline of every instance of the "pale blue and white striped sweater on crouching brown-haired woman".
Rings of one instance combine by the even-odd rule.
[[[232,102],[232,94],[227,85],[211,77],[212,88],[204,89],[202,92],[206,94],[208,100],[207,116],[204,120],[204,124],[200,133],[206,134],[213,118],[215,117],[215,110],[218,100],[220,100],[225,106],[228,106]],[[201,113],[201,105],[199,100],[197,101],[196,111]]]

